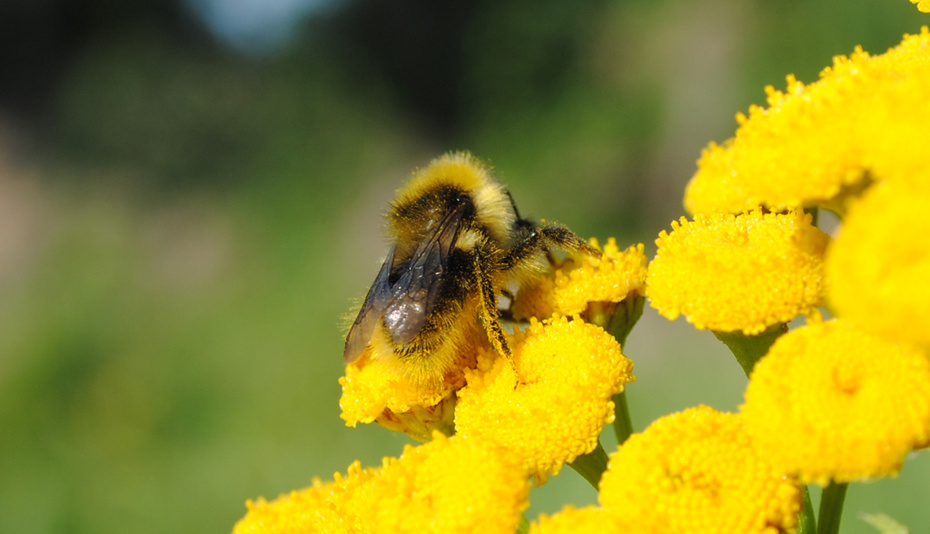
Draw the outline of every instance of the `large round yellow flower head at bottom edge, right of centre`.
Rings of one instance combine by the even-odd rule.
[[[753,448],[737,414],[706,406],[662,417],[611,456],[601,505],[667,532],[793,529],[799,487]]]

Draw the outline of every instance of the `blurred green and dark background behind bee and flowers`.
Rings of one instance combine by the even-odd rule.
[[[468,149],[524,214],[621,243],[682,214],[763,87],[930,18],[906,0],[0,5],[0,532],[228,532],[407,440],[339,419],[344,314],[417,166]],[[647,308],[642,429],[745,377]],[[615,447],[609,433],[608,450]],[[930,458],[850,488],[915,532]],[[532,519],[594,502],[565,469]]]

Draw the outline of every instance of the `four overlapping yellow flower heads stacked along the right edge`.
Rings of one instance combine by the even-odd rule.
[[[767,93],[704,151],[694,218],[659,236],[647,295],[748,355],[753,446],[826,486],[838,525],[847,483],[894,476],[930,443],[930,31]],[[835,239],[812,226],[818,209],[839,216]]]

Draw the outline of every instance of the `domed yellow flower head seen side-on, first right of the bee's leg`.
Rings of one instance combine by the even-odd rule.
[[[669,319],[758,334],[821,304],[828,241],[799,211],[682,218],[656,240],[646,294]]]

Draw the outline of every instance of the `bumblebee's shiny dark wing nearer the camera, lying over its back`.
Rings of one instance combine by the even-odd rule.
[[[384,325],[395,343],[409,343],[426,325],[448,278],[449,258],[464,214],[463,204],[449,212],[420,242],[400,278],[391,286],[392,296],[384,310]]]

